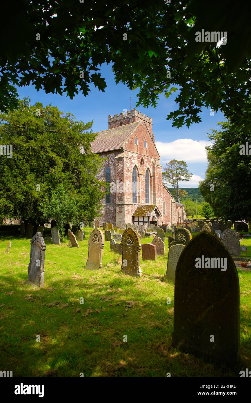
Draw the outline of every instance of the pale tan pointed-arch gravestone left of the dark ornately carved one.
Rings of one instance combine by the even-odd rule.
[[[91,231],[88,239],[88,258],[86,269],[94,270],[102,268],[102,256],[104,249],[104,235],[99,228]]]

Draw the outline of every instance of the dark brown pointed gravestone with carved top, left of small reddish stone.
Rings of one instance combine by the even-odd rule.
[[[121,239],[122,265],[121,272],[129,276],[141,277],[139,235],[133,228],[124,231]]]

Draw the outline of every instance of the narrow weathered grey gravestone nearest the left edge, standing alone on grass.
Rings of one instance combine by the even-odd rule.
[[[41,232],[37,232],[31,239],[31,254],[28,267],[28,281],[44,287],[44,258],[46,244]]]

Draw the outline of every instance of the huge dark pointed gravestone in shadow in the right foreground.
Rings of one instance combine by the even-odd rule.
[[[176,268],[172,346],[236,364],[239,303],[232,257],[217,237],[199,233],[181,253]]]

